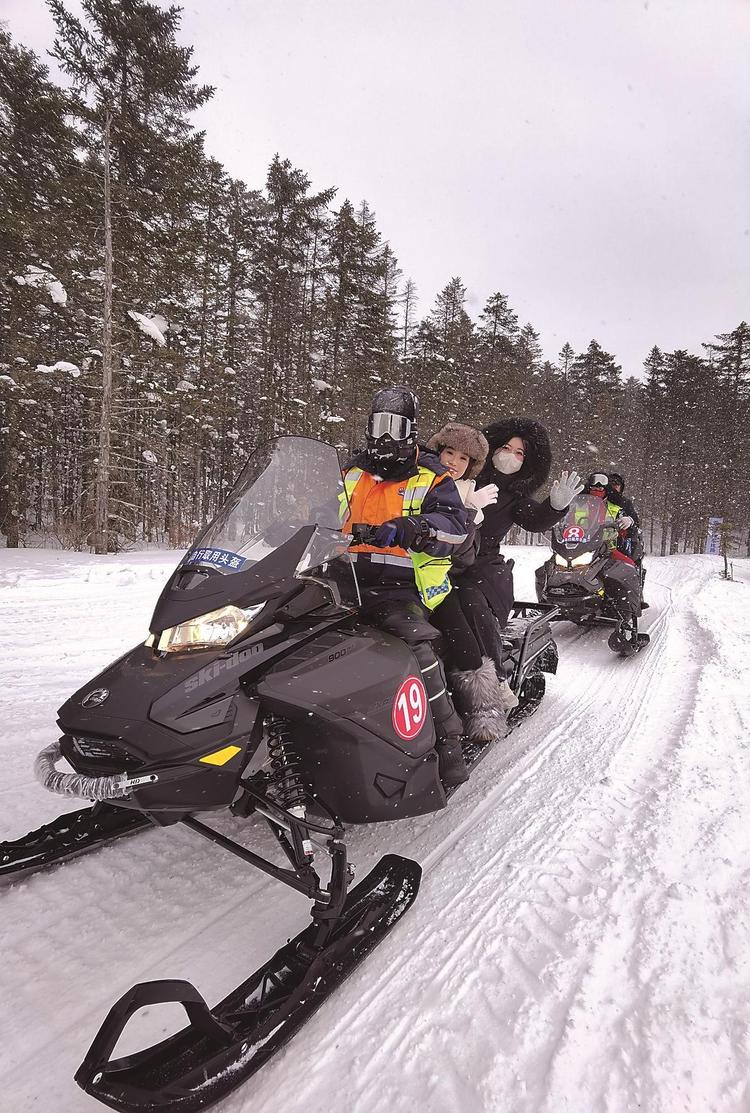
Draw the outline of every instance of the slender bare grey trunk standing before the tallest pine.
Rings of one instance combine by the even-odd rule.
[[[101,424],[97,463],[97,511],[95,549],[109,551],[109,456],[112,420],[112,201],[110,181],[110,137],[112,117],[105,118],[105,315],[101,359]]]

